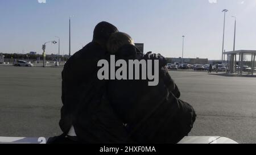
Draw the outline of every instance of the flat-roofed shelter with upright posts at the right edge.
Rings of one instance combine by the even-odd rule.
[[[241,74],[241,75],[244,72],[243,66],[244,66],[244,62],[245,62],[244,61],[245,56],[251,56],[251,70],[249,70],[249,71],[252,75],[254,74],[256,51],[254,51],[254,50],[239,50],[239,51],[224,52],[224,55],[228,55],[228,57],[230,57],[230,60],[228,62],[229,72],[237,73],[237,74]]]

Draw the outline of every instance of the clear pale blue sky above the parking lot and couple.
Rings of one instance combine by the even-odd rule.
[[[72,54],[92,40],[102,20],[129,33],[145,51],[180,57],[220,59],[226,16],[227,51],[233,50],[237,16],[237,49],[256,49],[256,0],[0,0],[0,52],[42,53],[42,44],[61,38],[61,53],[68,54],[68,18],[72,18]],[[57,53],[48,44],[47,53]]]

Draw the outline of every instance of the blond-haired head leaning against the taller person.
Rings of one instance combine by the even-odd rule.
[[[108,52],[113,55],[118,51],[119,48],[127,44],[134,45],[133,39],[127,33],[115,32],[108,40]]]

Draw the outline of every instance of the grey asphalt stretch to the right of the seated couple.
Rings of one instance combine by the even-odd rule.
[[[192,136],[224,136],[256,143],[256,78],[171,72],[181,99],[197,112]]]

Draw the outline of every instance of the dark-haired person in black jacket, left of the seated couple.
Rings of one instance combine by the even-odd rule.
[[[102,98],[106,81],[97,78],[99,60],[104,59],[106,41],[118,32],[110,23],[94,29],[93,41],[76,52],[62,72],[60,128],[80,143],[127,143],[127,132],[107,99]]]

